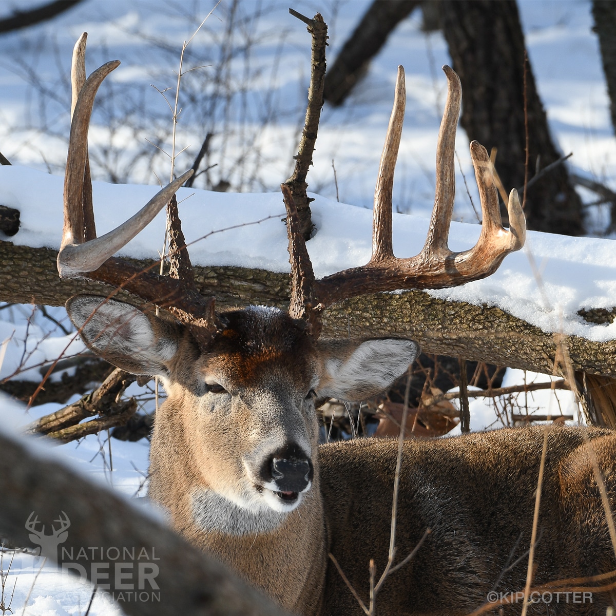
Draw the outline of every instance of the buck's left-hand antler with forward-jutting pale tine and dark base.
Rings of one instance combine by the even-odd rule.
[[[151,270],[143,271],[112,257],[169,203],[177,189],[192,176],[192,169],[164,187],[128,221],[102,237],[96,237],[87,132],[96,92],[103,79],[120,62],[107,62],[86,79],[86,37],[87,34],[82,34],[73,49],[73,100],[64,179],[64,230],[57,258],[60,277],[85,277],[124,288],[146,302],[168,309],[179,320],[187,323],[201,346],[206,346],[212,334],[220,327],[214,315],[214,298],[202,298],[190,280],[160,276]],[[185,250],[185,246],[178,248]]]

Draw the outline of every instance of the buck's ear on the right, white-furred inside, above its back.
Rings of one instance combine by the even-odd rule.
[[[351,401],[386,390],[419,354],[416,342],[399,338],[321,340],[317,347],[322,365],[317,394]]]

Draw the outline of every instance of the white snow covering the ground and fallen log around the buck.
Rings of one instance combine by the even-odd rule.
[[[38,2],[0,1],[0,14],[30,4]],[[52,23],[0,36],[0,151],[14,163],[11,168],[0,168],[0,203],[22,212],[22,230],[11,241],[59,246],[70,100],[67,70],[79,34],[89,33],[88,71],[110,59],[122,61],[109,83],[102,86],[92,123],[94,177],[150,185],[95,182],[100,235],[144,204],[155,192],[158,178],[165,183],[169,176],[169,158],[161,150],[171,151],[171,111],[156,89],[175,87],[182,42],[190,38],[212,6],[210,2],[87,0]],[[179,171],[190,167],[206,133],[212,132],[207,164],[217,166],[209,172],[209,184],[229,181],[233,189],[243,193],[205,192],[200,189],[206,185],[201,177],[195,182],[198,189],[180,192],[179,198],[184,200],[180,216],[189,241],[237,222],[274,216],[258,225],[210,235],[197,241],[190,254],[201,264],[284,271],[288,256],[285,230],[279,222],[283,206],[277,186],[290,174],[303,121],[309,35],[304,25],[288,14],[288,2],[243,0],[233,15],[230,6],[223,0],[188,47],[184,69],[205,67],[188,73],[182,81],[177,150],[187,150],[177,156],[176,165]],[[330,24],[329,57],[333,59],[368,2],[302,0],[292,6],[306,15],[322,12]],[[598,43],[591,31],[590,2],[531,0],[519,6],[533,70],[556,140],[563,152],[573,152],[570,160],[575,168],[616,190],[616,142]],[[317,275],[361,264],[369,256],[371,213],[352,206],[371,204],[399,63],[407,73],[408,101],[394,209],[411,216],[395,217],[394,249],[398,256],[410,256],[423,244],[434,198],[436,135],[445,95],[439,67],[449,60],[442,36],[422,33],[419,22],[415,13],[400,24],[344,107],[333,110],[326,105],[323,110],[314,169],[308,178],[310,190],[319,195],[314,203],[318,233],[309,246]],[[232,46],[240,51],[225,62],[221,49],[229,51]],[[164,94],[172,102],[174,92]],[[464,134],[458,135],[457,150],[477,203]],[[460,172],[456,179],[455,217],[474,222]],[[336,203],[336,191],[341,203]],[[583,196],[587,201],[593,198]],[[103,204],[104,209],[100,207]],[[605,226],[605,211],[593,208],[589,215],[596,229]],[[453,224],[451,247],[467,248],[478,233],[477,225]],[[162,237],[163,219],[159,217],[127,251],[134,256],[153,256]],[[553,330],[556,322],[565,333],[598,341],[614,339],[616,325],[593,325],[577,316],[580,308],[613,305],[613,244],[608,239],[529,233],[527,248],[506,257],[492,277],[438,293],[496,304],[546,330]],[[529,255],[539,275],[530,266]],[[63,318],[60,309],[52,314]],[[11,374],[23,357],[28,365],[37,367],[54,359],[71,339],[41,317],[26,325],[27,315],[26,309],[0,310],[0,344],[8,340],[0,346],[0,377]],[[67,353],[79,348],[80,343],[73,342],[74,350]],[[38,368],[31,368],[28,375],[36,378]],[[505,384],[521,383],[524,378],[529,376],[508,371]],[[559,397],[556,402],[546,392],[535,392],[519,404],[544,410],[560,405],[564,414],[572,413],[570,394],[559,392]],[[2,397],[0,420],[10,418],[9,423],[24,424],[57,408],[59,405],[44,405],[26,412]],[[473,429],[493,426],[495,419],[492,405],[472,402]],[[105,478],[129,496],[143,492],[147,443],[113,440],[109,444],[107,434],[100,434],[65,445],[60,451],[86,474]],[[10,554],[5,554],[0,563],[5,573],[9,559]],[[26,554],[15,556],[4,596],[0,596],[0,611],[15,583],[12,612],[84,614],[91,588],[60,577],[48,565],[38,573],[41,564]],[[97,593],[89,614],[107,616],[120,611]]]

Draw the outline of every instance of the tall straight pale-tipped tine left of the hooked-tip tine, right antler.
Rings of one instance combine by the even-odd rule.
[[[372,219],[372,256],[370,262],[379,262],[394,256],[392,246],[392,191],[394,188],[395,163],[398,159],[400,136],[404,122],[407,90],[404,68],[398,67],[395,80],[394,107],[389,117],[387,135],[376,176],[375,209]]]

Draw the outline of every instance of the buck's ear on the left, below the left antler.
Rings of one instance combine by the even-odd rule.
[[[70,298],[66,308],[89,349],[108,362],[134,375],[168,376],[180,326],[93,295]]]

